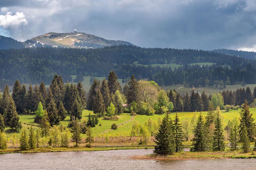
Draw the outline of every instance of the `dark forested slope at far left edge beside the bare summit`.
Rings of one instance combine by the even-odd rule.
[[[0,35],[0,49],[24,48],[22,42]]]

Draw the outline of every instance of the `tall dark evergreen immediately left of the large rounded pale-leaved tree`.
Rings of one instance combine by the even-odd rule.
[[[136,80],[134,75],[132,75],[132,78],[128,82],[128,91],[127,93],[127,102],[128,104],[132,103],[133,101],[138,103],[139,101],[139,82]]]

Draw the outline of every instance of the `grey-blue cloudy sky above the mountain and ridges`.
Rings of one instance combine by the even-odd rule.
[[[141,47],[256,51],[256,0],[0,0],[0,34],[74,29]]]

